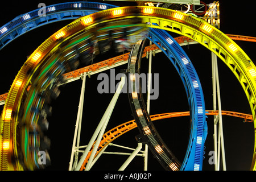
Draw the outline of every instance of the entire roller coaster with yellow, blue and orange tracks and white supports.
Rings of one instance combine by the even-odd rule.
[[[222,116],[243,118],[244,122],[254,125],[256,122],[255,65],[234,41],[256,42],[256,38],[221,32],[218,1],[209,4],[189,0],[129,1],[130,6],[119,6],[120,2],[122,1],[119,1],[118,6],[115,1],[66,2],[47,6],[41,3],[39,9],[16,16],[0,27],[1,51],[8,49],[8,44],[15,42],[19,36],[29,34],[35,28],[61,20],[71,20],[71,23],[49,36],[27,57],[9,92],[0,95],[0,104],[3,105],[0,118],[1,170],[36,170],[45,169],[47,164],[50,165],[51,144],[46,134],[48,127],[52,125],[51,115],[55,111],[52,102],[61,95],[65,85],[76,80],[82,80],[82,86],[75,127],[69,128],[73,140],[68,170],[88,171],[94,164],[100,163],[101,158],[108,156],[107,154],[128,156],[117,168],[120,171],[126,169],[135,156],[142,156],[143,169],[147,170],[148,152],[151,152],[166,170],[203,170],[209,125],[213,125],[214,169],[226,170]],[[212,110],[205,106],[205,95],[208,93],[203,92],[193,61],[182,48],[193,44],[201,44],[211,52]],[[152,57],[158,57],[160,54],[170,60],[171,67],[180,77],[179,81],[182,82],[187,96],[188,111],[150,114],[152,81],[155,79],[152,78]],[[106,58],[106,55],[112,57]],[[240,83],[249,101],[250,114],[221,109],[217,57],[228,66]],[[102,97],[103,99],[94,100],[99,105],[101,102],[109,103],[100,121],[93,121],[95,127],[86,125],[86,131],[93,132],[90,132],[88,143],[85,144],[82,140],[82,133],[86,132],[82,127],[82,118],[86,117],[86,80],[94,75],[106,75],[107,71],[113,69],[120,73],[119,82],[114,85],[111,99],[104,100]],[[144,72],[149,80],[146,86],[141,77]],[[159,76],[159,79],[171,84],[174,78]],[[156,81],[154,80],[154,83]],[[145,87],[146,93],[142,93]],[[133,119],[113,123],[110,118],[115,109],[120,109],[115,105],[121,94],[128,97],[122,104],[129,105]],[[93,94],[90,97],[94,97]],[[96,110],[94,114],[100,114]],[[209,115],[213,115],[213,122],[208,121]],[[180,159],[180,156],[176,156],[174,147],[168,144],[168,138],[162,138],[162,133],[156,129],[158,127],[155,127],[155,121],[185,116],[189,116],[189,130],[187,143],[182,145],[187,149]],[[56,122],[59,122],[59,125],[67,125],[62,121]],[[108,131],[106,129],[109,125],[114,127]],[[136,148],[114,144],[115,139],[122,138],[123,134],[135,128],[138,128],[138,133],[132,141],[137,142]],[[109,146],[125,148],[132,152],[106,151]],[[253,148],[251,170],[254,170],[256,165],[255,146]]]

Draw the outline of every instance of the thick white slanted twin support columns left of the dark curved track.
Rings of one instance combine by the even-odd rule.
[[[110,101],[110,104],[109,104],[108,108],[106,109],[100,123],[98,124],[96,130],[94,131],[94,134],[93,134],[92,138],[90,139],[88,146],[86,147],[84,153],[82,154],[82,156],[79,160],[79,163],[77,164],[77,166],[75,168],[75,171],[79,171],[79,169],[81,168],[82,163],[84,162],[86,156],[88,155],[88,153],[90,151],[90,148],[92,148],[92,145],[93,145],[94,141],[96,140],[96,138],[98,136],[98,139],[96,141],[96,144],[94,145],[92,154],[90,155],[88,164],[86,165],[86,168],[88,167],[87,169],[90,169],[90,164],[92,164],[94,155],[96,154],[96,151],[98,149],[98,146],[99,146],[101,138],[102,138],[102,135],[104,134],[104,131],[106,129],[106,125],[109,122],[110,116],[111,116],[112,111],[113,111],[114,106],[115,106],[115,103],[117,102],[118,96],[119,96],[124,84],[125,84],[125,77],[123,76],[121,78],[121,81],[119,82],[118,88],[117,88],[112,100]]]

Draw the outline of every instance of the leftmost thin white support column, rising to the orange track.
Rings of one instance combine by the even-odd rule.
[[[86,80],[86,73],[84,73],[84,75],[82,77],[82,88],[81,88],[81,94],[80,94],[80,100],[79,100],[79,109],[77,111],[76,127],[75,127],[75,134],[74,134],[74,138],[73,138],[71,159],[70,159],[69,168],[68,168],[69,171],[71,171],[73,168],[73,160],[74,160],[74,155],[75,155],[75,151],[76,151],[76,140],[77,140],[77,146],[79,145],[79,140],[80,140],[82,108],[84,105],[85,80]],[[77,158],[74,162],[74,165],[76,165],[76,163],[77,163]]]

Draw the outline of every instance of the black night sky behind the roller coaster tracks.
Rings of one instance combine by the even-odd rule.
[[[1,26],[20,14],[27,13],[38,8],[41,1],[8,1],[1,2],[0,20]],[[44,1],[46,5],[67,1]],[[204,1],[209,3],[207,1]],[[108,3],[105,1],[105,3]],[[113,2],[110,2],[113,3]],[[255,7],[256,3],[230,3],[220,2],[220,30],[225,34],[247,35],[256,37],[254,30],[255,13],[249,7]],[[40,46],[54,32],[64,27],[71,21],[63,21],[48,24],[36,28],[27,34],[20,36],[9,43],[0,51],[1,72],[0,72],[0,94],[8,92],[15,75],[22,67],[27,56]],[[174,35],[174,34],[171,34]],[[174,35],[177,36],[177,35]],[[236,41],[251,60],[256,60],[255,43]],[[191,59],[197,74],[200,77],[201,85],[205,96],[207,110],[213,109],[212,102],[212,71],[210,51],[199,44],[183,47]],[[112,55],[109,55],[112,57]],[[147,72],[147,59],[142,61],[142,72]],[[115,73],[121,68],[126,69],[127,65],[115,69]],[[250,106],[240,83],[232,74],[229,68],[218,59],[218,71],[221,88],[222,110],[237,111],[251,114]],[[109,73],[106,71],[105,73]],[[183,84],[170,60],[163,53],[156,54],[152,60],[152,73],[159,73],[159,98],[151,100],[150,114],[169,113],[176,111],[188,111],[188,101]],[[97,75],[86,78],[84,113],[82,120],[81,145],[88,143],[97,123],[100,121],[111,98],[112,93],[99,94]],[[117,81],[118,82],[118,81]],[[52,166],[48,170],[67,170],[71,155],[73,133],[82,81],[71,82],[61,87],[61,94],[56,101],[52,102],[53,113],[49,121],[47,135],[51,138]],[[3,106],[0,106],[2,110]],[[121,123],[133,119],[127,94],[119,96],[117,105],[110,118],[106,131]],[[208,137],[205,143],[205,159],[203,170],[213,170],[214,167],[208,164],[209,151],[213,150],[213,117],[207,118]],[[226,168],[228,170],[249,170],[253,155],[254,128],[253,123],[243,123],[242,118],[223,116],[224,139],[226,151]],[[155,122],[164,142],[174,152],[175,156],[182,161],[185,155],[188,142],[189,117],[170,118]],[[127,147],[137,147],[135,136],[139,134],[138,129],[129,131],[114,141]],[[114,147],[108,147],[107,151],[117,151]],[[124,150],[121,150],[125,152]],[[127,156],[104,155],[92,170],[117,170],[125,162]],[[143,159],[135,160],[127,167],[127,170],[142,170]],[[148,170],[163,170],[162,166],[153,158],[149,151]]]

